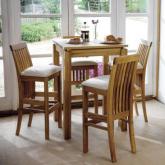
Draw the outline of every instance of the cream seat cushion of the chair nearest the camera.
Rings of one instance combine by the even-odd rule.
[[[83,86],[92,87],[101,90],[108,90],[109,75],[90,78],[82,83]]]

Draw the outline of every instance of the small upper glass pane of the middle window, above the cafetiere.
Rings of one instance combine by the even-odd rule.
[[[109,13],[111,0],[74,0],[75,13]]]

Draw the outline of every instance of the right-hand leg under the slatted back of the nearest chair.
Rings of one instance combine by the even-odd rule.
[[[133,119],[131,117],[129,117],[128,121],[129,121],[129,137],[130,137],[130,144],[131,144],[131,152],[136,153]]]

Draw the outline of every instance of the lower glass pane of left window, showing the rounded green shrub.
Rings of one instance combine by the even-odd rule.
[[[60,18],[22,18],[21,38],[30,54],[51,54],[52,39],[61,36]]]

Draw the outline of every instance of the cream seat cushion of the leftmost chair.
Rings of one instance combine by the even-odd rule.
[[[61,67],[56,65],[31,66],[25,69],[22,76],[49,77],[50,75],[61,71]]]

